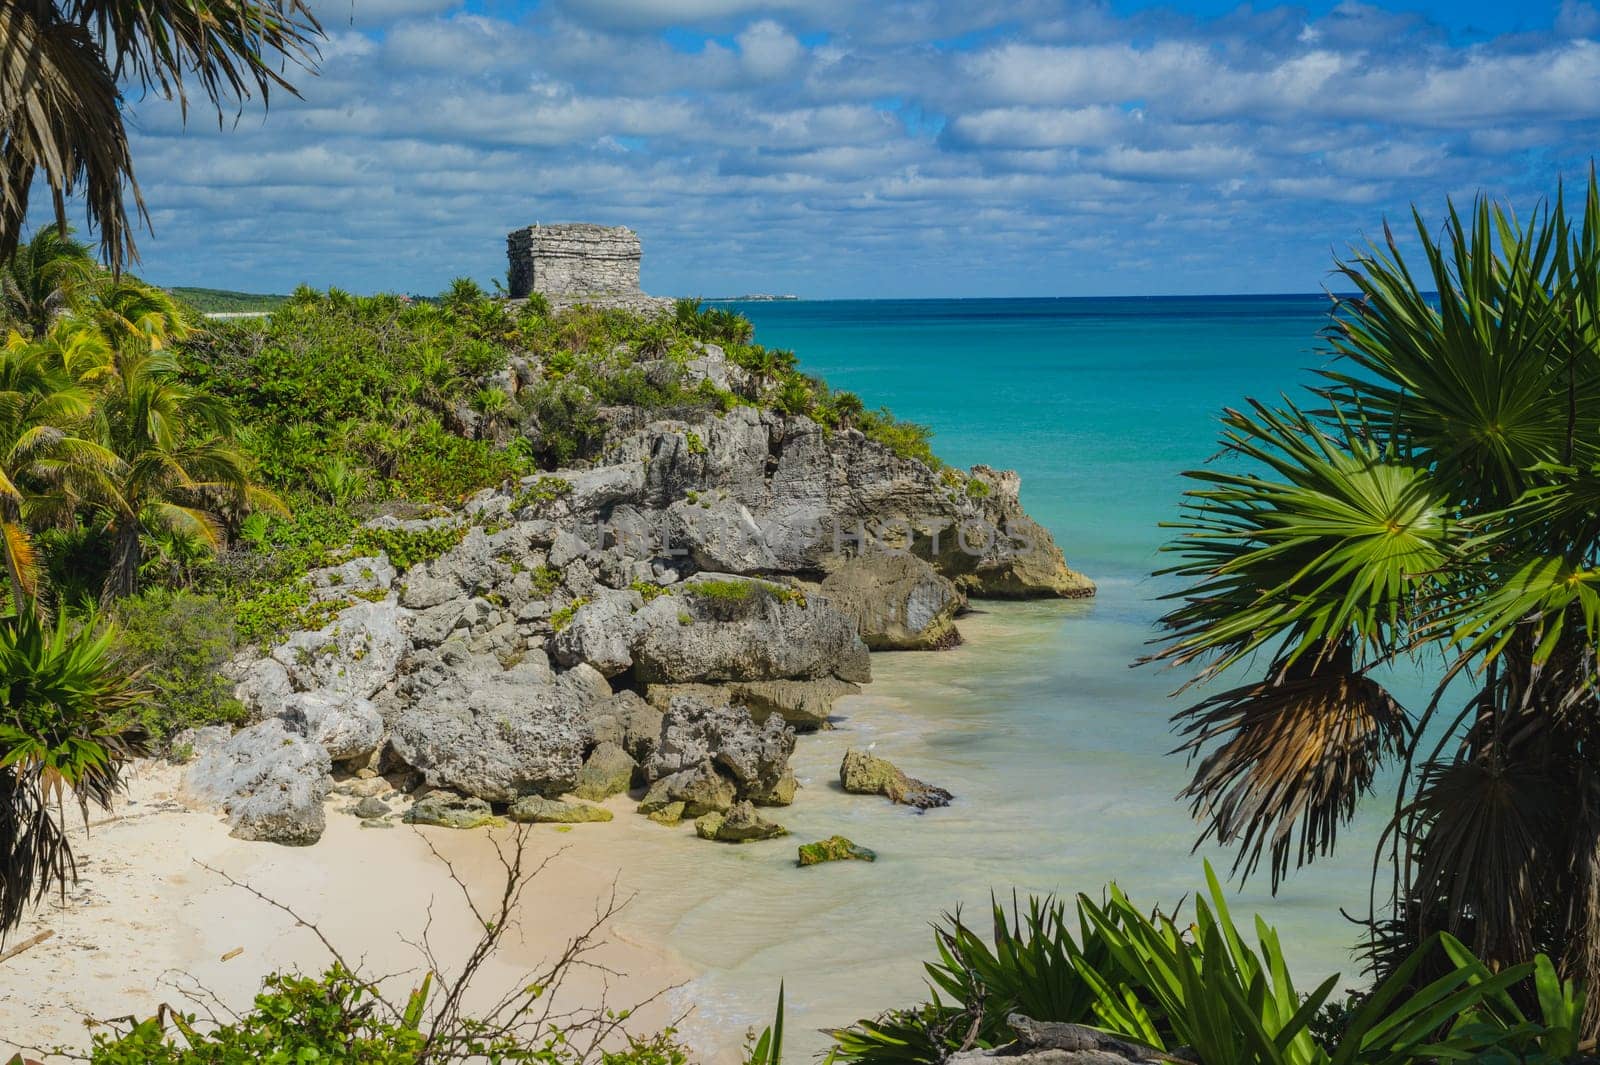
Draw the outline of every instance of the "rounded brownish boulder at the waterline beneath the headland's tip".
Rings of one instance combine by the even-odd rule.
[[[874,651],[930,651],[960,643],[955,616],[966,595],[910,553],[867,552],[822,580],[822,596],[854,619]]]

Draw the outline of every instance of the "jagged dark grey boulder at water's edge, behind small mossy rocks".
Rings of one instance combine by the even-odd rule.
[[[789,769],[794,748],[795,732],[782,718],[757,724],[741,705],[678,696],[662,720],[661,744],[645,763],[645,779],[659,780],[704,763],[731,777],[739,798],[784,806],[795,792]]]

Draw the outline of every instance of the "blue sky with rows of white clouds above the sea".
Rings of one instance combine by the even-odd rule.
[[[1314,291],[1416,203],[1522,209],[1600,134],[1557,3],[328,0],[302,99],[133,101],[168,285],[438,291],[534,221],[662,294]]]

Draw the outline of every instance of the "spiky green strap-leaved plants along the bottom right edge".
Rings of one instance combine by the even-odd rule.
[[[1440,932],[1355,1009],[1336,1009],[1338,975],[1298,990],[1277,932],[1256,918],[1258,945],[1246,943],[1210,867],[1206,883],[1182,921],[1147,913],[1115,886],[1104,902],[1078,895],[1074,919],[1054,899],[1010,915],[997,903],[987,942],[946,915],[925,966],[930,1001],[834,1031],[835,1060],[936,1065],[1010,1043],[1018,1015],[1195,1065],[1554,1063],[1578,1049],[1582,991],[1544,955],[1491,971]],[[1531,1014],[1510,993],[1525,980],[1538,987]]]

